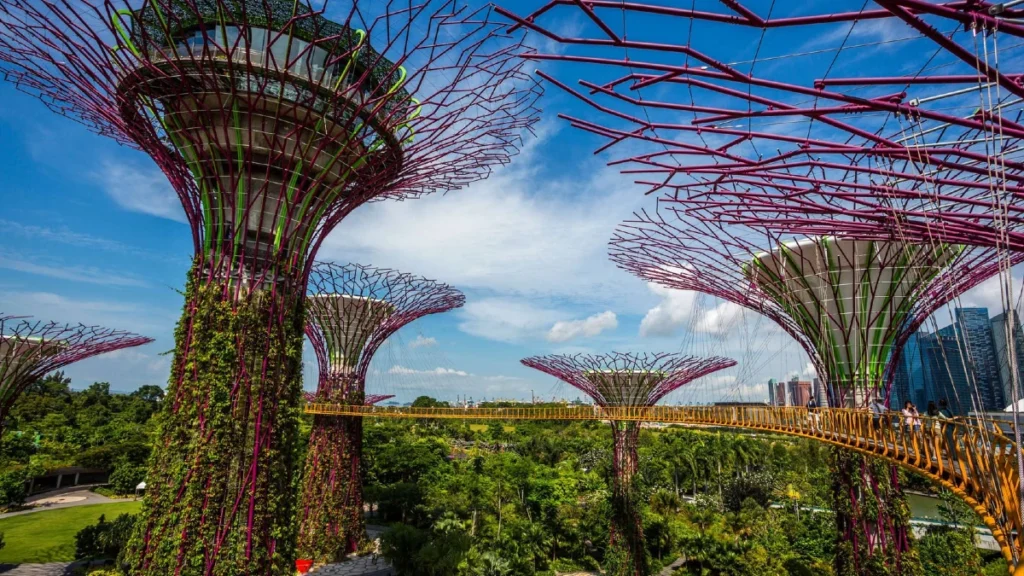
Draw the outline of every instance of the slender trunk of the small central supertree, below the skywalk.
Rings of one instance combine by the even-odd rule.
[[[611,526],[605,571],[609,576],[647,576],[643,522],[636,506],[637,440],[636,422],[611,422],[614,476],[611,493]]]

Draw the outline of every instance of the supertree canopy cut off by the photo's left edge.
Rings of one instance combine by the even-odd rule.
[[[0,436],[17,399],[46,374],[79,360],[152,341],[122,330],[0,314]]]

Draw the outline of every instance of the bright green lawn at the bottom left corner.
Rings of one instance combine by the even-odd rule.
[[[58,508],[0,519],[6,545],[0,549],[0,564],[71,562],[75,560],[75,534],[95,524],[99,515],[114,520],[124,512],[136,512],[142,502],[115,502]]]

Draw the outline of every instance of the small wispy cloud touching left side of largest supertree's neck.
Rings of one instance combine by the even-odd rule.
[[[160,170],[108,161],[96,176],[106,195],[125,210],[186,221],[177,194]]]

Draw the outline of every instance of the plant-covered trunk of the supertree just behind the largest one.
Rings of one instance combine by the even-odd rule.
[[[339,402],[329,396],[318,395],[317,402]],[[362,405],[361,393],[348,397],[340,402]],[[362,418],[313,418],[299,501],[299,558],[335,562],[365,541],[361,455]]]

